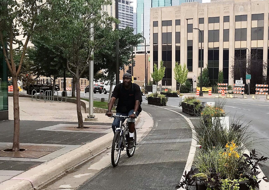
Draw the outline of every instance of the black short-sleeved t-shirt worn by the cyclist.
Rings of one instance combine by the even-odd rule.
[[[131,84],[129,89],[125,89],[122,83],[117,84],[111,97],[116,99],[119,98],[118,105],[116,107],[116,111],[119,113],[128,113],[133,110],[136,100],[139,100],[140,104],[142,102],[140,87],[134,83]],[[142,111],[141,105],[139,106],[138,111]]]

